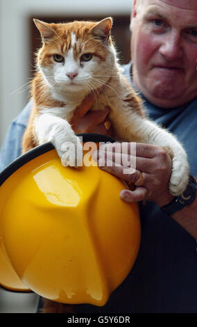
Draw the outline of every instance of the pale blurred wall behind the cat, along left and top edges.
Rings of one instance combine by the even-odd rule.
[[[28,99],[28,17],[130,13],[132,0],[0,0],[0,145],[8,125]],[[19,89],[17,92],[15,90]]]

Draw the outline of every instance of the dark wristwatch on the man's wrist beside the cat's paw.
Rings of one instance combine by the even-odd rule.
[[[180,196],[175,196],[173,200],[168,204],[161,207],[161,209],[172,216],[175,212],[182,210],[183,208],[190,205],[191,202],[196,198],[196,179],[189,175],[189,181],[185,191],[180,194]]]

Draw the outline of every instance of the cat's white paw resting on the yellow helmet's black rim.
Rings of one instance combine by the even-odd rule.
[[[73,141],[65,141],[61,145],[60,159],[62,166],[83,166],[83,145],[78,137]]]

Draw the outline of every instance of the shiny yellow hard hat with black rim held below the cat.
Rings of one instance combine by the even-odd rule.
[[[0,284],[104,305],[139,250],[139,210],[119,198],[123,182],[96,166],[65,168],[46,143],[3,170],[0,185]]]

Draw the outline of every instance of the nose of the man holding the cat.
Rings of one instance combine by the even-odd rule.
[[[160,54],[167,60],[173,61],[182,56],[182,38],[180,33],[171,31],[166,35],[166,39],[160,47]]]

